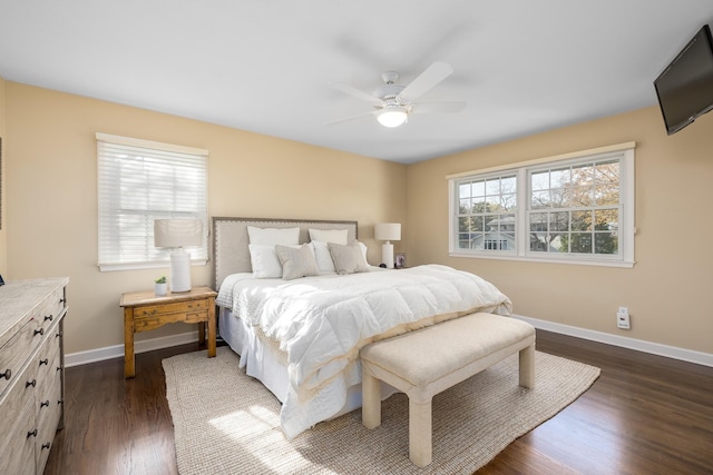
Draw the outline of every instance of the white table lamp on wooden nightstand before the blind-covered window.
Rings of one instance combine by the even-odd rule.
[[[170,291],[191,290],[191,254],[186,246],[201,246],[203,243],[203,222],[199,219],[155,219],[154,246],[169,247]]]

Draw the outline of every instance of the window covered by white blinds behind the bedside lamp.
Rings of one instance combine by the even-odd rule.
[[[207,261],[207,150],[97,133],[99,268],[163,267],[170,249],[154,247],[154,219],[203,221]]]

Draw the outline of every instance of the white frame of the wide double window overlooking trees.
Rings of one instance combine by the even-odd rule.
[[[473,170],[449,175],[448,201],[449,201],[449,249],[450,257],[484,258],[522,260],[535,263],[575,264],[605,267],[634,266],[634,236],[635,227],[635,142],[618,144],[596,149],[565,154],[555,157],[545,157],[511,164],[502,167],[492,167],[482,170]],[[603,161],[616,158],[619,160],[619,222],[618,222],[618,249],[616,255],[605,254],[577,254],[577,253],[543,253],[529,249],[529,215],[530,209],[530,174],[548,168],[573,166]],[[462,249],[458,247],[459,239],[459,186],[469,180],[481,180],[492,177],[512,175],[517,176],[517,206],[515,210],[515,248],[507,250],[496,249]],[[593,209],[587,207],[585,209]]]

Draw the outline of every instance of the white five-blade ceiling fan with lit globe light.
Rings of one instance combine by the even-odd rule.
[[[458,112],[466,107],[466,102],[421,102],[417,101],[423,93],[453,73],[453,68],[446,62],[434,62],[421,72],[408,86],[398,85],[399,73],[387,71],[381,75],[384,85],[373,91],[364,92],[343,82],[330,82],[334,89],[370,102],[374,110],[356,116],[333,120],[328,125],[341,123],[364,116],[375,116],[384,127],[399,127],[406,123],[411,113],[421,112]]]

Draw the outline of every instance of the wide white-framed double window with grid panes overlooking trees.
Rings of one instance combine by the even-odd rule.
[[[634,144],[448,179],[451,256],[634,264]]]

